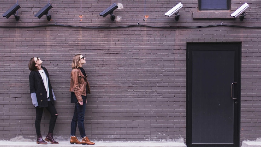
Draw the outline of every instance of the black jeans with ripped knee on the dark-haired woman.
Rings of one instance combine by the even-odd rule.
[[[41,135],[41,119],[43,116],[44,108],[48,110],[48,112],[51,114],[51,119],[49,122],[49,133],[54,132],[55,128],[55,122],[57,119],[57,111],[55,109],[55,106],[51,103],[51,101],[48,101],[48,107],[42,107],[38,108],[35,107],[36,110],[36,118],[35,118],[35,129],[36,129],[36,135]]]

